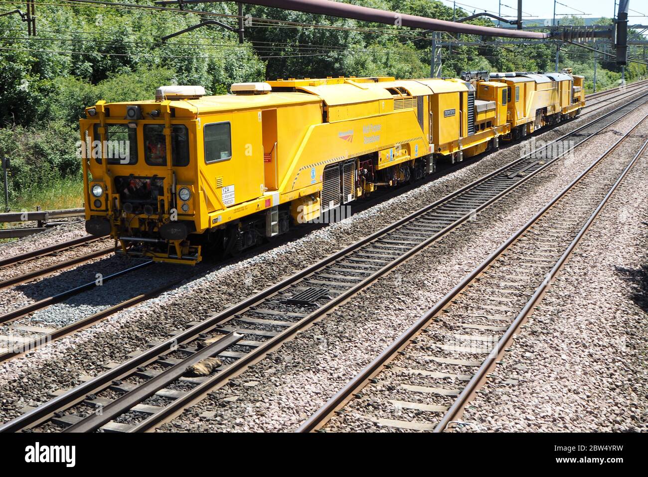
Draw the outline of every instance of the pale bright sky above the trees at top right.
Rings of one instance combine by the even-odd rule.
[[[445,5],[452,6],[452,0],[442,0]],[[498,12],[498,3],[502,2],[502,16],[503,17],[516,17],[518,1],[517,0],[457,0],[457,6],[469,11],[472,10],[482,11],[490,10],[490,13]],[[589,15],[581,15],[584,18],[599,18],[599,17],[612,17],[615,0],[561,0],[556,5],[556,18],[561,18],[561,14],[577,15],[583,12]],[[463,5],[459,5],[459,4]],[[562,5],[560,5],[562,4]],[[466,6],[466,5],[470,5]],[[511,8],[507,8],[507,6]],[[566,6],[564,6],[566,5]],[[618,7],[617,7],[618,8]],[[648,25],[648,3],[645,0],[630,0],[629,23],[642,23]],[[553,0],[522,0],[522,12],[526,12],[536,18],[552,18],[553,17]],[[526,14],[522,14],[525,19]]]

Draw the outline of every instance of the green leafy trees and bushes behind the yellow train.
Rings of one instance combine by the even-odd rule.
[[[151,5],[149,0],[122,1]],[[430,0],[345,1],[445,20],[472,13]],[[19,16],[0,18],[0,154],[12,159],[12,197],[40,197],[34,191],[78,180],[80,161],[74,147],[78,119],[86,106],[99,99],[150,99],[161,84],[201,84],[208,93],[223,94],[232,82],[266,78],[430,75],[430,35],[398,25],[244,4],[246,42],[239,44],[238,20],[232,17],[238,14],[236,3],[184,8],[178,12],[43,4],[38,7],[36,37],[27,36]],[[217,19],[234,31],[211,25],[162,41],[163,36],[206,19]],[[561,19],[574,25],[579,21]],[[469,23],[494,26],[488,18]],[[599,23],[609,25],[610,20]],[[630,36],[637,35],[631,32]],[[470,44],[453,43],[457,40]],[[484,43],[491,40],[445,35],[441,75],[456,77],[470,69],[553,71],[555,67],[553,43]],[[586,88],[592,88],[591,52],[564,45],[559,67],[564,66],[584,75]],[[625,73],[630,81],[644,77],[647,70],[631,63]],[[601,56],[597,88],[616,86],[619,80],[618,67]]]

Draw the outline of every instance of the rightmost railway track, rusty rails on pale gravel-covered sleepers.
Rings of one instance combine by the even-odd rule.
[[[645,128],[647,118],[615,141],[298,432],[323,430],[329,421],[334,430],[353,430],[360,422],[443,432],[456,422],[608,199],[645,155],[648,140],[635,133]]]

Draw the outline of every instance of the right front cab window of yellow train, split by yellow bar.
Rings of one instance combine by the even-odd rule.
[[[171,158],[174,166],[189,165],[189,130],[181,124],[171,127]],[[144,125],[144,160],[148,165],[167,165],[163,124]]]

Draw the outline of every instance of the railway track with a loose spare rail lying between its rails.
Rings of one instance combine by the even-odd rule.
[[[576,147],[641,106],[647,96],[556,141],[573,138]],[[154,430],[568,152],[554,154],[551,144],[541,148],[543,160],[535,159],[540,151],[533,151],[257,295],[165,341],[150,343],[148,350],[57,393],[0,430],[41,424],[67,432]],[[205,356],[222,360],[215,374],[183,376],[189,365]],[[106,393],[108,397],[103,397]],[[93,408],[89,415],[87,406]]]

